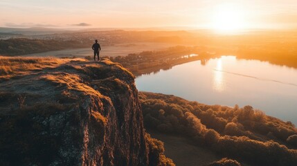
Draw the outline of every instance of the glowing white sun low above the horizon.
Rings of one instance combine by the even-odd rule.
[[[221,4],[213,10],[211,28],[218,33],[237,33],[246,28],[244,10],[233,4]]]

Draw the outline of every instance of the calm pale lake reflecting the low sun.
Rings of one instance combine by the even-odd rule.
[[[177,95],[204,104],[251,105],[297,124],[297,70],[222,56],[136,78],[138,91]]]

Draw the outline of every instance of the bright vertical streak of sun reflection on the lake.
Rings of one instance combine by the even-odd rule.
[[[224,73],[222,73],[222,59],[217,60],[217,66],[213,70],[213,89],[218,92],[225,90]]]

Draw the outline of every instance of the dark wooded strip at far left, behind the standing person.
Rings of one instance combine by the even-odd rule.
[[[0,40],[0,55],[24,55],[42,53],[50,50],[85,47],[78,41],[57,41],[42,39],[5,39]]]

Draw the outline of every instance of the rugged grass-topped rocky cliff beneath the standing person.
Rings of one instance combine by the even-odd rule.
[[[1,165],[149,165],[134,76],[108,60],[52,61],[1,74]]]

